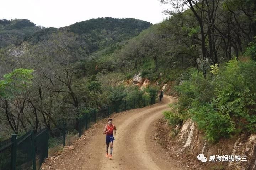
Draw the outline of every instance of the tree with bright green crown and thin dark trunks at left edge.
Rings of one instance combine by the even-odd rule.
[[[12,130],[16,133],[20,130],[20,125],[27,129],[25,121],[32,124],[31,120],[27,118],[28,112],[25,110],[30,110],[34,114],[36,118],[34,130],[37,131],[37,112],[27,97],[32,83],[32,73],[33,70],[30,69],[15,69],[13,72],[5,74],[4,80],[0,81],[1,109],[3,109]]]

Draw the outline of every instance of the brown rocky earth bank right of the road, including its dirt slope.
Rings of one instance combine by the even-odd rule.
[[[218,143],[207,142],[202,131],[188,119],[182,126],[171,129],[164,119],[158,122],[159,133],[155,136],[169,152],[195,169],[213,170],[255,170],[256,134],[241,134],[232,139],[222,139]],[[166,133],[166,131],[168,133]],[[207,158],[204,163],[197,155]]]

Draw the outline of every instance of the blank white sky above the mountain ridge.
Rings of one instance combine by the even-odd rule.
[[[37,26],[64,27],[98,17],[135,18],[159,23],[171,5],[160,0],[2,0],[1,19],[28,19]]]

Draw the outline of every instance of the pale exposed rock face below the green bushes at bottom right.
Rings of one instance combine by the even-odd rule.
[[[218,143],[210,143],[204,139],[204,134],[198,130],[196,124],[191,119],[188,119],[183,122],[176,140],[178,145],[182,146],[177,151],[179,155],[189,154],[196,159],[198,154],[204,154],[207,157],[208,165],[215,166],[221,163],[221,166],[226,166],[227,169],[256,170],[256,134],[251,134],[250,136],[242,134],[233,137],[233,139],[222,139]],[[231,158],[234,156],[234,160],[227,159],[226,161],[224,159],[226,155]],[[210,156],[216,158],[216,160],[209,161]],[[221,156],[222,160],[217,160],[217,156]]]

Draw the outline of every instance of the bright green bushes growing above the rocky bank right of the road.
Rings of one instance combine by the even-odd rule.
[[[213,75],[204,77],[192,69],[187,73],[192,74],[182,74],[185,80],[175,87],[180,95],[178,104],[165,113],[171,124],[191,117],[209,141],[241,131],[256,131],[255,62],[240,62],[235,58]]]

